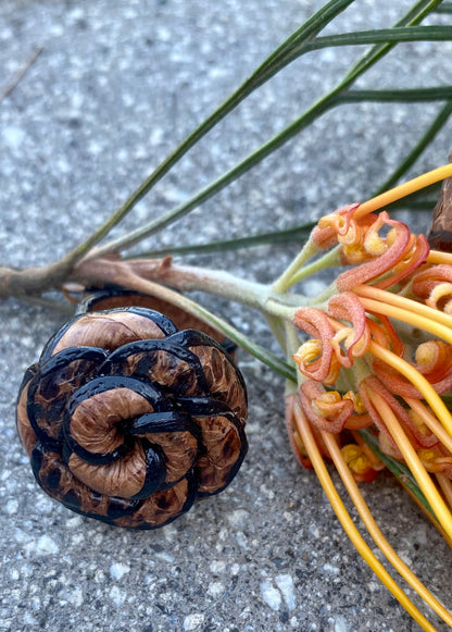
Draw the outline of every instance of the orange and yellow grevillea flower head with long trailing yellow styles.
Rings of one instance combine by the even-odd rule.
[[[444,170],[442,177],[452,173],[450,165]],[[418,186],[413,181],[365,205],[343,207],[314,228],[317,251],[336,248],[344,269],[318,303],[312,300],[293,315],[304,339],[292,356],[298,388],[288,396],[287,423],[300,461],[314,467],[360,550],[361,536],[346,518],[324,458],[336,464],[377,545],[451,625],[452,616],[382,538],[356,486],[389,468],[403,484],[410,481],[420,506],[452,540],[452,256],[430,251],[424,235],[387,211],[375,213]],[[363,555],[419,624],[431,630],[373,554]]]

